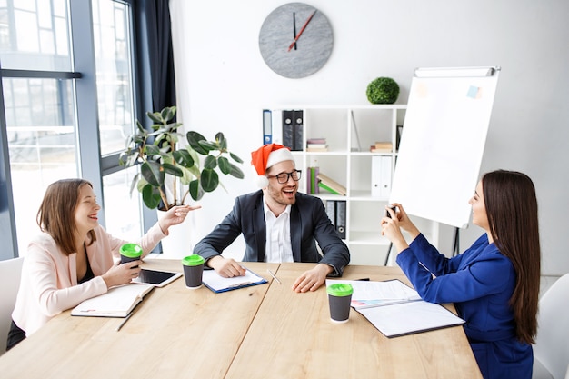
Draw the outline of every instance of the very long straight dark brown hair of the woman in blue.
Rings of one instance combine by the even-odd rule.
[[[541,249],[535,187],[529,176],[497,170],[482,178],[484,204],[494,244],[516,274],[510,306],[520,341],[534,343],[540,285]]]

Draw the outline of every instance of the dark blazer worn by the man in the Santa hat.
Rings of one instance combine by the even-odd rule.
[[[244,262],[265,261],[265,214],[263,191],[244,194],[235,199],[234,208],[221,224],[195,245],[194,254],[207,261],[222,254],[239,234],[245,238]],[[290,214],[291,244],[294,262],[314,262],[334,267],[334,276],[341,276],[350,262],[350,252],[335,231],[318,197],[296,194]],[[316,249],[316,241],[322,254]]]

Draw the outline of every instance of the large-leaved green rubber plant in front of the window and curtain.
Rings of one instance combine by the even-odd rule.
[[[119,165],[141,165],[132,181],[131,193],[136,188],[150,209],[168,210],[185,204],[188,194],[200,200],[220,185],[225,189],[220,174],[245,177],[235,165],[243,160],[227,150],[227,139],[221,132],[213,141],[195,131],[187,132],[187,145],[180,147],[178,143],[184,135],[178,132],[182,124],[174,121],[175,113],[175,106],[146,112],[153,123],[152,130],[136,120],[135,133],[128,137],[126,149],[119,157]]]

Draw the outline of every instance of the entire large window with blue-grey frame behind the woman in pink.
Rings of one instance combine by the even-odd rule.
[[[66,177],[94,182],[109,232],[141,234],[139,196],[129,194],[135,168],[101,165],[118,162],[134,127],[132,25],[125,1],[0,1],[0,147],[9,157],[0,174],[11,184],[13,207],[0,209],[0,221],[13,219],[16,233],[4,233],[16,236],[19,255],[39,232],[35,216],[46,186]]]

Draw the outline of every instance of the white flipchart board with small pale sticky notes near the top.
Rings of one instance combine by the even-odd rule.
[[[418,68],[409,93],[391,203],[464,228],[476,188],[499,67]]]

